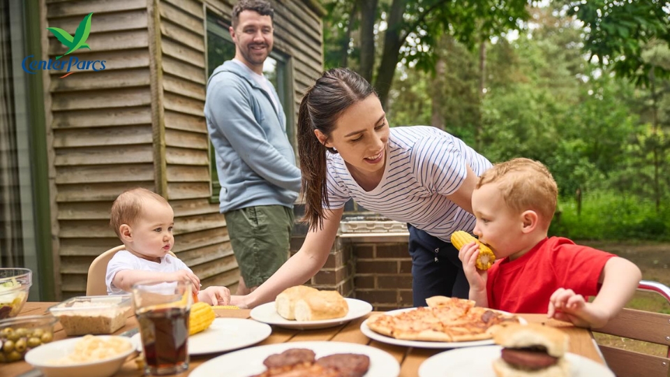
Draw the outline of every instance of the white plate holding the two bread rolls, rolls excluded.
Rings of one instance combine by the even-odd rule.
[[[361,318],[372,311],[372,305],[367,302],[345,298],[349,306],[349,313],[342,318],[333,318],[329,320],[288,320],[277,313],[273,302],[256,306],[251,310],[251,318],[258,320],[268,325],[276,325],[279,327],[286,327],[288,329],[311,330],[311,329],[325,329],[326,327],[334,327],[342,325],[350,320]]]

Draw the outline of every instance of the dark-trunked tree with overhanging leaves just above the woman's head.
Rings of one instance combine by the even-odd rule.
[[[528,0],[332,0],[329,4],[359,12],[359,40],[349,41],[360,47],[358,71],[377,89],[385,108],[399,62],[431,71],[436,60],[433,47],[442,35],[451,35],[472,47],[489,36],[518,28],[520,21],[528,17]],[[373,16],[376,27],[368,23]],[[333,21],[328,19],[326,24]],[[325,40],[326,45],[341,41],[341,34],[352,35],[342,22],[338,25],[341,25],[338,36]],[[382,40],[378,34],[382,32],[383,46],[379,49]],[[341,54],[348,54],[350,47],[349,44]],[[381,50],[380,63],[375,64],[378,50]]]

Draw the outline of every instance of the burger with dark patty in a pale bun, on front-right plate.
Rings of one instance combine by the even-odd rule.
[[[568,337],[553,327],[539,324],[509,325],[496,332],[493,340],[502,346],[502,355],[493,361],[498,377],[567,377],[565,360]]]

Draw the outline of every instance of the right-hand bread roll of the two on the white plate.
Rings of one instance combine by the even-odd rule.
[[[342,318],[347,313],[349,313],[349,305],[336,290],[309,293],[295,302],[296,320]]]

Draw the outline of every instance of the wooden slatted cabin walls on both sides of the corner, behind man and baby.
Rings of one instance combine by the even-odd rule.
[[[174,252],[203,286],[234,291],[237,262],[218,204],[209,202],[214,162],[202,112],[205,9],[230,20],[231,2],[43,1],[47,26],[72,33],[94,12],[91,50],[75,55],[106,61],[105,71],[65,78],[52,73],[47,80],[59,298],[83,294],[91,261],[120,244],[108,227],[110,207],[119,193],[135,186],[168,198],[175,214]],[[292,57],[295,119],[305,89],[322,71],[322,24],[308,3],[273,2],[275,46]],[[66,51],[51,34],[47,50],[52,59]]]

